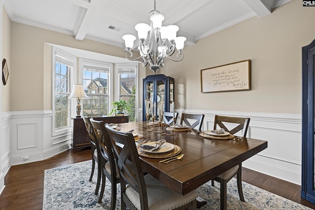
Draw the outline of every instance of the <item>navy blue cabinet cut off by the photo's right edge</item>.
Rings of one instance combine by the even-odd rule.
[[[302,190],[315,204],[315,40],[302,48]]]

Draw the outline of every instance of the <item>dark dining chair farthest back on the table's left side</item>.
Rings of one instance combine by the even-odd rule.
[[[90,121],[90,119],[88,117],[82,117],[82,118],[83,118],[85,127],[87,129],[88,134],[89,134],[90,142],[91,142],[92,171],[91,171],[90,181],[92,181],[94,170],[95,170],[95,163],[97,163],[98,166],[100,165],[100,159],[98,157],[100,154],[98,153],[98,151],[96,149],[97,148],[97,144],[95,142],[95,137],[93,135],[93,131],[92,131],[93,128],[92,128],[92,125],[91,125],[91,121]],[[99,190],[101,175],[102,175],[101,168],[98,167],[97,168],[97,181],[96,181],[95,195],[97,195],[98,190]]]

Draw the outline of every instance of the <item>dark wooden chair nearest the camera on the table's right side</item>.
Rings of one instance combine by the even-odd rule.
[[[246,137],[247,130],[250,123],[250,118],[237,118],[237,117],[226,117],[226,116],[215,116],[214,129],[223,128],[230,134],[235,134],[241,131],[241,136]],[[221,210],[226,210],[226,183],[236,175],[238,194],[241,201],[245,201],[242,189],[242,163],[234,166],[233,168],[222,173],[215,179],[211,180],[211,185],[214,186],[214,180],[220,182],[220,202]]]

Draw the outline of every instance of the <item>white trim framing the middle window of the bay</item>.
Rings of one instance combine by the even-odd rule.
[[[109,75],[108,75],[108,104],[109,106],[107,108],[107,113],[110,113],[111,104],[113,102],[113,94],[114,94],[113,63],[104,62],[100,60],[79,59],[79,81],[81,82],[81,84],[83,84],[83,64],[96,65],[96,66],[109,68]]]

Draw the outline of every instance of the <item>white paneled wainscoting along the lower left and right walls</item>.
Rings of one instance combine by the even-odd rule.
[[[273,177],[301,184],[301,115],[215,110],[176,110],[176,112],[179,113],[178,123],[182,112],[205,114],[204,130],[213,129],[214,116],[216,114],[251,118],[248,137],[268,141],[268,148],[243,162],[243,166]],[[4,139],[8,138],[9,141],[7,140],[4,144],[1,142],[1,145],[10,148],[10,152],[7,153],[1,151],[1,169],[4,169],[4,171],[6,170],[5,168],[8,169],[11,165],[42,160],[70,148],[72,139],[70,130],[58,136],[52,135],[52,112],[50,110],[11,112],[5,119],[2,116],[3,120],[7,121],[7,123],[3,123],[5,126],[1,128],[1,136]],[[20,141],[18,125],[27,125],[26,127],[32,130],[26,131],[24,128],[20,130],[28,135],[27,138],[21,137],[23,141],[26,141],[22,145],[18,145]],[[34,141],[35,137],[37,140],[36,144]],[[5,149],[1,148],[0,150]],[[21,157],[27,157],[28,159],[21,161]],[[10,161],[8,161],[8,158],[10,158]],[[2,170],[2,173],[5,175],[6,172],[4,171]]]

